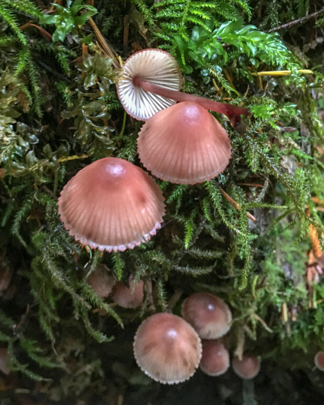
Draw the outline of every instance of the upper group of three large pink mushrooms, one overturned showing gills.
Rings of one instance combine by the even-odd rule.
[[[143,165],[160,179],[195,184],[221,173],[231,156],[228,134],[207,108],[226,114],[231,122],[248,110],[182,93],[181,83],[175,59],[147,49],[125,62],[117,94],[131,116],[146,120],[138,138]],[[75,240],[108,252],[133,249],[150,239],[165,212],[154,180],[115,157],[80,170],[63,187],[58,206]]]

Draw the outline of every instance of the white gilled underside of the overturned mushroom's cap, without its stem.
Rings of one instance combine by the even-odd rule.
[[[175,100],[148,93],[134,85],[135,77],[166,89],[181,89],[181,72],[176,60],[160,49],[144,49],[125,62],[117,83],[117,95],[124,109],[134,118],[145,121],[157,111],[175,104]]]

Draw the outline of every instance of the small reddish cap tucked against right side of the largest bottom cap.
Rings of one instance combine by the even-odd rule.
[[[199,368],[209,376],[220,376],[229,368],[229,353],[219,340],[203,340]]]

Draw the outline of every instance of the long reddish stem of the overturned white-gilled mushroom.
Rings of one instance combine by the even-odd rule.
[[[193,94],[182,93],[179,91],[157,86],[153,83],[148,82],[140,76],[134,77],[133,83],[135,86],[140,87],[146,92],[158,94],[159,96],[171,98],[172,100],[176,101],[191,101],[193,103],[201,105],[201,107],[204,107],[207,110],[225,114],[229,118],[232,118],[233,115],[249,115],[250,113],[249,110],[244,107],[238,107],[227,103],[220,103],[219,101],[209,100],[207,98],[195,96]]]

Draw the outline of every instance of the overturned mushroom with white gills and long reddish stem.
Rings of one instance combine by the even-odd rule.
[[[232,124],[247,108],[209,100],[180,92],[181,73],[175,59],[159,49],[135,52],[125,62],[117,83],[117,94],[125,110],[136,119],[146,120],[176,101],[190,101],[226,114]]]

